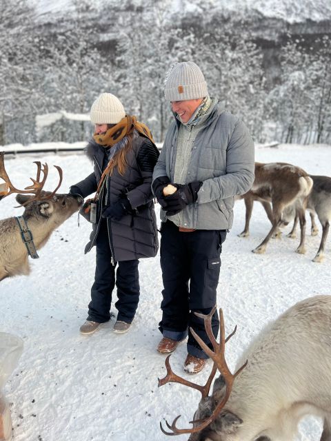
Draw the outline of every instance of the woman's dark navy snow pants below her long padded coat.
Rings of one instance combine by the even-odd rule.
[[[112,290],[116,283],[118,300],[115,307],[119,311],[117,320],[131,323],[139,302],[139,260],[118,262],[115,278],[115,267],[111,263],[112,254],[106,222],[101,225],[96,245],[97,266],[91,289],[91,301],[88,305],[88,320],[99,323],[110,320]]]

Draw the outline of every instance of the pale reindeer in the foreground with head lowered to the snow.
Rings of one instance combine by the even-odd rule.
[[[213,350],[194,334],[214,365],[205,386],[172,372],[168,356],[167,375],[159,380],[179,382],[201,391],[193,427],[179,429],[177,420],[166,422],[166,435],[190,433],[189,441],[291,441],[303,416],[323,418],[320,441],[331,440],[331,296],[307,298],[285,311],[252,342],[232,374],[224,358],[223,314],[220,309],[220,342],[214,338],[211,317],[205,329]],[[248,359],[243,364],[243,361]],[[245,368],[245,369],[244,369]],[[208,396],[214,375],[212,395]],[[240,375],[239,375],[240,374]]]

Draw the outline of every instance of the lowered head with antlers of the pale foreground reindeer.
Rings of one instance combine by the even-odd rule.
[[[228,336],[228,338],[225,338],[223,311],[222,309],[219,309],[220,342],[218,343],[214,338],[214,334],[212,333],[212,316],[215,310],[216,306],[212,309],[212,311],[210,311],[208,316],[194,313],[198,317],[203,318],[205,323],[205,331],[210,339],[210,342],[212,342],[214,351],[205,345],[205,342],[201,340],[201,338],[194,332],[192,328],[190,329],[192,335],[197,340],[203,351],[205,351],[205,353],[207,353],[208,356],[210,356],[210,358],[212,358],[214,361],[212,371],[205,385],[200,386],[199,384],[195,384],[185,380],[185,378],[177,376],[174,372],[172,372],[170,367],[170,356],[168,356],[165,360],[167,375],[159,380],[159,386],[162,386],[167,382],[179,382],[188,387],[199,390],[202,396],[199,403],[199,408],[194,413],[194,420],[191,421],[193,427],[191,429],[178,429],[176,424],[180,417],[179,415],[174,419],[171,425],[168,424],[168,422],[165,422],[171,432],[165,431],[160,423],[161,431],[163,431],[165,435],[180,435],[181,433],[190,433],[191,435],[189,441],[237,441],[235,433],[243,421],[238,416],[234,415],[234,413],[225,411],[223,408],[230,397],[234,379],[247,365],[247,361],[243,366],[241,366],[240,369],[238,369],[236,373],[232,374],[230,372],[224,358],[225,342],[227,342],[234,335],[237,327],[234,328],[234,331],[232,334],[230,334],[230,336]],[[219,369],[221,372],[221,376],[215,380],[212,395],[208,396],[210,386],[217,369]]]

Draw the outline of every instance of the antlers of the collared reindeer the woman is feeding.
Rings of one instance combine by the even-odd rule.
[[[9,196],[12,193],[19,193],[19,194],[34,194],[34,198],[30,201],[37,199],[38,201],[43,201],[44,199],[50,199],[59,189],[61,183],[62,183],[62,169],[58,165],[54,165],[54,167],[59,172],[59,183],[57,187],[54,189],[53,192],[48,194],[47,196],[41,196],[41,192],[43,190],[43,186],[46,183],[46,178],[48,176],[48,165],[41,164],[39,161],[34,161],[35,164],[37,164],[37,178],[33,179],[30,178],[32,181],[32,185],[29,185],[28,187],[25,187],[25,189],[20,190],[17,187],[14,187],[12,182],[10,181],[10,178],[5,170],[4,165],[4,152],[0,152],[0,178],[5,181],[5,184],[1,184],[0,186],[0,198],[6,198],[6,196]],[[43,173],[43,178],[41,179],[41,173]]]

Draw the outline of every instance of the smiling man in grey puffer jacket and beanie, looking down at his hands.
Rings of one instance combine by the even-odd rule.
[[[232,227],[234,196],[248,192],[254,181],[254,144],[247,127],[210,98],[203,73],[192,61],[172,66],[165,99],[171,103],[174,121],[152,182],[162,207],[163,338],[157,350],[170,353],[188,336],[184,370],[197,373],[208,356],[189,328],[212,347],[203,319],[194,312],[209,314],[216,304],[220,254]],[[165,196],[169,184],[177,191]],[[215,337],[218,329],[215,312]]]

